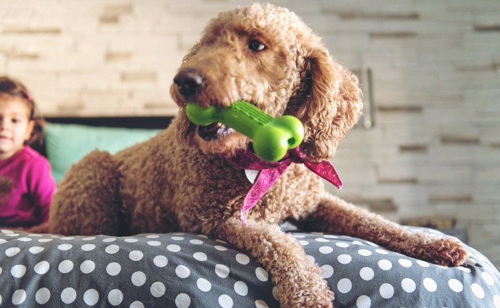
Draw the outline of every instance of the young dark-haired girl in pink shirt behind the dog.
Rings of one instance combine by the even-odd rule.
[[[0,195],[0,227],[30,227],[47,221],[55,192],[49,161],[26,145],[37,138],[35,102],[19,81],[0,77],[0,177],[10,192]]]

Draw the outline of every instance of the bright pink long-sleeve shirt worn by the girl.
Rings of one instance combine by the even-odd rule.
[[[24,146],[0,160],[0,175],[12,180],[10,194],[0,199],[0,226],[29,227],[49,219],[55,180],[47,158]]]

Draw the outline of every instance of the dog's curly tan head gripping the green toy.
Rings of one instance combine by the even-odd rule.
[[[271,116],[297,116],[305,127],[301,147],[315,161],[334,156],[362,112],[355,75],[297,15],[273,5],[253,4],[212,19],[174,81],[178,137],[204,153],[246,149],[250,140],[224,125],[190,123],[186,103],[229,107],[243,99]]]

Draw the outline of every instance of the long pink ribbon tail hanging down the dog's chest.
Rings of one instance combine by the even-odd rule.
[[[263,169],[259,172],[257,179],[255,179],[255,183],[253,183],[247,196],[245,197],[245,200],[243,201],[240,220],[245,224],[245,226],[247,225],[245,213],[258,203],[260,198],[262,198],[269,188],[276,183],[288,166],[290,165],[284,165],[274,169]]]

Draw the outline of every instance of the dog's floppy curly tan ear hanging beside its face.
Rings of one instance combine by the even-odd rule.
[[[301,84],[288,112],[305,127],[302,149],[309,159],[334,157],[338,142],[362,114],[358,78],[338,64],[321,43],[305,55]]]

